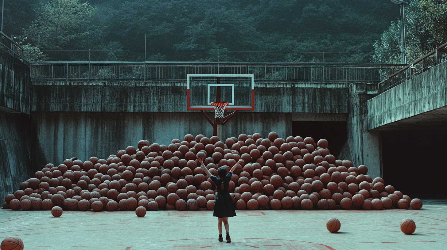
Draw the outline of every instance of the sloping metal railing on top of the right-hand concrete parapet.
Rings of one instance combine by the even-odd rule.
[[[397,85],[408,81],[416,75],[430,70],[439,63],[447,61],[447,42],[425,54],[413,63],[406,65],[400,70],[388,75],[379,83],[379,93],[383,93]]]

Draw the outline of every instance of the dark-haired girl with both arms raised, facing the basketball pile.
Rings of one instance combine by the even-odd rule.
[[[219,167],[217,169],[217,175],[219,177],[211,175],[210,171],[208,171],[205,164],[201,158],[198,158],[198,161],[202,164],[202,168],[205,173],[210,177],[210,179],[216,184],[217,195],[214,200],[214,213],[213,216],[219,218],[219,242],[223,242],[222,237],[222,222],[225,226],[225,231],[227,231],[227,243],[231,242],[230,233],[229,233],[229,225],[228,225],[228,217],[236,216],[236,212],[234,211],[233,200],[231,199],[230,194],[228,193],[228,184],[231,180],[231,175],[233,171],[239,166],[239,163],[242,162],[242,159],[239,159],[231,170],[227,174],[227,170],[224,167]]]

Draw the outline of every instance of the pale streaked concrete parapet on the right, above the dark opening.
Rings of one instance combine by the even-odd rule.
[[[380,126],[392,122],[445,108],[446,87],[447,62],[443,62],[430,71],[371,98],[367,101],[368,129],[380,129]],[[441,118],[445,114],[446,112],[441,112]],[[439,120],[439,116],[426,117],[423,120]]]

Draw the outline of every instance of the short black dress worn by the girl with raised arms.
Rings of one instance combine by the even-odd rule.
[[[225,179],[220,179],[214,175],[210,176],[210,179],[214,181],[217,188],[216,199],[214,200],[214,213],[213,216],[224,218],[236,216],[236,211],[234,211],[233,200],[228,193],[228,184],[230,183],[232,172],[229,172]],[[223,190],[220,189],[223,183]]]

